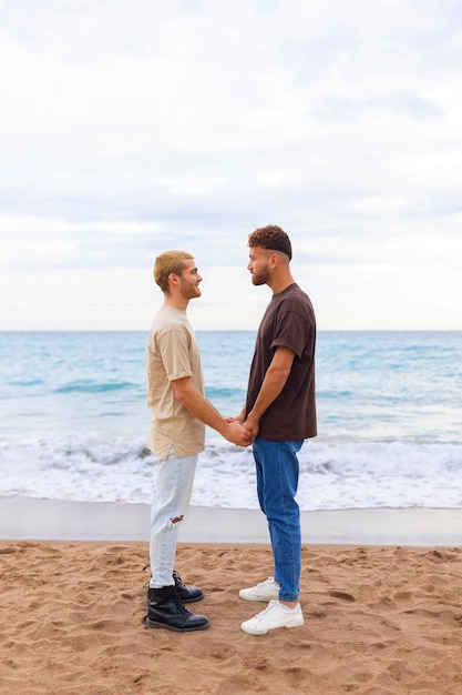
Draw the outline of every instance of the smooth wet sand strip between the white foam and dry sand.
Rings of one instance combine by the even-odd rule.
[[[0,541],[147,542],[150,505],[0,497]],[[357,508],[301,512],[315,545],[462,545],[462,510]],[[259,510],[192,506],[178,543],[268,544]]]

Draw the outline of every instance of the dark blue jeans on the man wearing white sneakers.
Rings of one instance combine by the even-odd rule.
[[[254,459],[257,494],[268,521],[275,561],[275,581],[281,601],[298,601],[301,570],[300,511],[295,501],[298,487],[299,442],[269,442],[257,436]]]

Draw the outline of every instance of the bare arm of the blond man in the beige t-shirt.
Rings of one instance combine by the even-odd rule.
[[[240,422],[227,422],[220,413],[212,405],[207,399],[197,391],[191,381],[191,376],[184,379],[175,379],[172,381],[175,397],[183,403],[185,407],[201,420],[204,424],[213,427],[228,442],[237,444],[237,446],[248,446],[251,437],[249,432],[243,427]]]

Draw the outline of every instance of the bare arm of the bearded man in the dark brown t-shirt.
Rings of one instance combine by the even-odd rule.
[[[268,410],[279,393],[283,391],[289,377],[295,352],[288,348],[276,348],[271,363],[268,366],[260,391],[254,403],[254,407],[247,415],[244,426],[251,432],[253,440],[258,434],[261,415]]]

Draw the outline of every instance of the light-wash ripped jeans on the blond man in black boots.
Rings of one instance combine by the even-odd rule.
[[[197,456],[176,459],[171,450],[157,460],[157,490],[151,508],[151,588],[172,586],[176,542],[183,517],[189,508]]]

